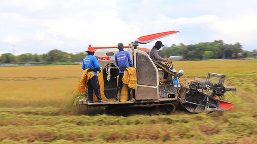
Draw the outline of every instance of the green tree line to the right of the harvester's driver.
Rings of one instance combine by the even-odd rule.
[[[183,56],[185,60],[222,59],[225,58],[246,58],[256,57],[257,51],[243,51],[240,43],[225,44],[222,40],[214,42],[199,43],[195,45],[184,45],[180,43],[171,47],[164,47],[159,51],[164,58],[170,56]]]

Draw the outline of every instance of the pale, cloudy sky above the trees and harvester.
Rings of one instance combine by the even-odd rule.
[[[160,39],[164,45],[223,40],[257,49],[256,0],[0,1],[0,54],[75,54],[173,30],[180,33]]]

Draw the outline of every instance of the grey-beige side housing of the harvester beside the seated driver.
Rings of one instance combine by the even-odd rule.
[[[169,75],[170,84],[160,84],[164,70],[156,67],[150,56],[138,49],[134,50],[134,64],[137,72],[135,99],[141,101],[170,101],[176,100],[180,88],[179,81]],[[173,68],[173,72],[176,70]]]

